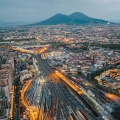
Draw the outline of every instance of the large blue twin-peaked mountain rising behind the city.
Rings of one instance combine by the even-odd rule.
[[[64,14],[59,13],[42,22],[38,22],[32,25],[56,25],[56,24],[71,25],[71,24],[88,24],[88,23],[106,24],[108,23],[108,21],[91,18],[83,13],[75,12],[75,13],[72,13],[71,15],[64,15]]]

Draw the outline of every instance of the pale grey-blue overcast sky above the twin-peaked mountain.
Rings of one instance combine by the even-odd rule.
[[[57,13],[73,12],[120,20],[120,0],[0,0],[0,20],[6,22],[42,21]]]

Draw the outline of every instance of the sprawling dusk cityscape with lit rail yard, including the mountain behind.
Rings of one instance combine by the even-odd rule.
[[[0,25],[0,120],[120,120],[120,23]]]

